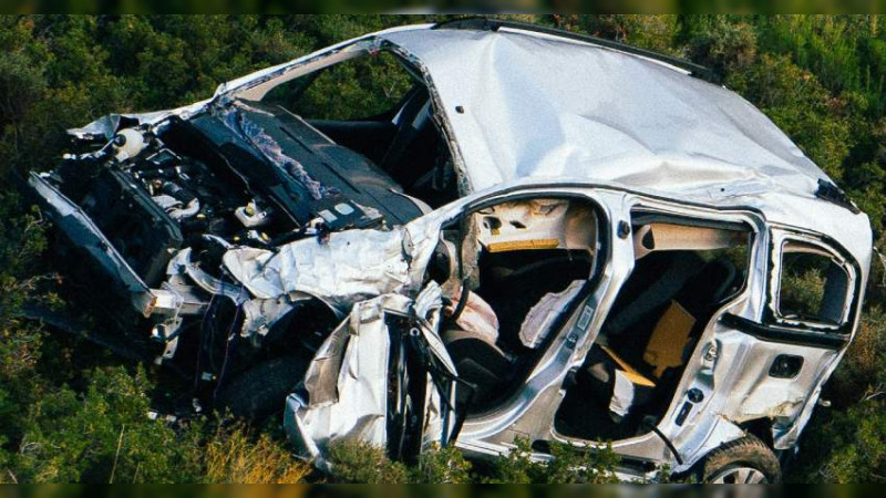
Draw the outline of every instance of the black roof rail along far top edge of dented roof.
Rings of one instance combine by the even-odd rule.
[[[558,30],[556,28],[548,28],[545,25],[529,24],[527,22],[505,21],[498,19],[483,18],[483,17],[467,17],[467,18],[453,19],[451,21],[437,22],[431,29],[498,31],[498,29],[501,28],[507,28],[521,31],[532,31],[535,33],[549,34],[568,40],[577,40],[587,43],[593,43],[595,45],[600,45],[607,49],[617,50],[619,52],[653,59],[656,61],[673,65],[681,70],[688,71],[689,74],[691,74],[692,76],[696,76],[698,79],[711,83],[715,84],[722,83],[720,76],[712,70],[703,65],[696,64],[694,62],[687,61],[686,59],[664,55],[662,53],[653,52],[651,50],[639,49],[637,46],[631,46],[617,41],[607,40],[605,38],[594,37],[590,34],[574,33],[571,31]]]

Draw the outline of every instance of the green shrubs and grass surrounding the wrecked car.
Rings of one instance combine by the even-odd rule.
[[[712,68],[759,106],[870,215],[886,219],[884,15],[521,15]],[[224,81],[389,25],[396,15],[0,17],[0,178],[52,165],[64,129],[110,112],[206,98]],[[323,95],[363,98],[332,74]],[[398,82],[391,82],[395,85]],[[318,102],[321,105],[322,102]],[[309,468],[274,430],[145,416],[158,373],[22,318],[64,307],[45,226],[0,181],[0,483],[296,481]],[[877,245],[883,248],[884,240]],[[886,480],[886,287],[875,263],[858,336],[787,471],[797,481]],[[525,445],[524,445],[525,446]],[[556,449],[562,452],[563,448]],[[338,478],[359,481],[609,481],[614,456],[563,453],[539,466],[518,447],[490,469],[450,448],[406,467],[371,448],[337,448]],[[590,469],[593,471],[576,471]]]

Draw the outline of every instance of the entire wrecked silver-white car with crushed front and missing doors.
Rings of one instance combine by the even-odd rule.
[[[411,85],[385,112],[299,104],[380,61]],[[85,151],[29,184],[133,347],[204,405],[284,411],[321,468],[349,439],[409,460],[525,438],[611,442],[626,478],[775,481],[872,232],[705,74],[538,27],[399,28],[72,129]]]

